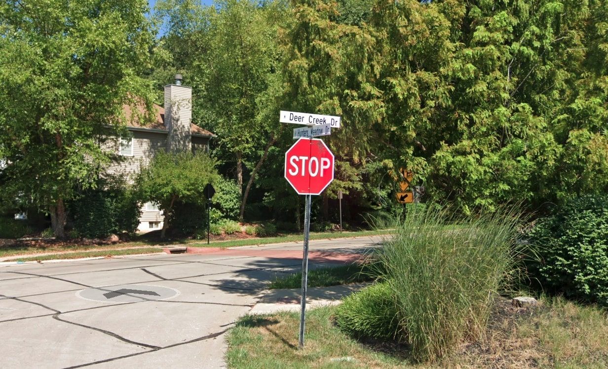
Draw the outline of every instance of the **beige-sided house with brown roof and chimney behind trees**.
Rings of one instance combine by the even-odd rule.
[[[143,107],[138,107],[143,112]],[[125,106],[127,118],[133,117],[131,107]],[[154,155],[165,151],[209,151],[209,140],[216,135],[192,123],[192,88],[182,86],[182,76],[175,76],[175,83],[165,86],[164,107],[154,105],[154,120],[140,124],[129,119],[128,137],[106,143],[106,149],[116,152],[118,160],[106,168],[112,175],[123,176],[132,182],[142,165]],[[161,229],[164,217],[154,203],[142,207],[138,231]]]

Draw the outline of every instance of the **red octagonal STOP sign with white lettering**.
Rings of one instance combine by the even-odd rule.
[[[300,195],[319,195],[334,180],[334,154],[317,138],[300,138],[285,153],[285,178]]]

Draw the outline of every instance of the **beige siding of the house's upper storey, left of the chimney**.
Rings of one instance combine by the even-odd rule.
[[[120,140],[114,138],[106,141],[104,148],[113,152],[116,158],[106,171],[112,175],[123,175],[126,180],[133,183],[135,175],[139,173],[142,165],[150,163],[157,152],[167,147],[167,134],[161,132],[131,131],[133,135],[133,156],[119,155]]]

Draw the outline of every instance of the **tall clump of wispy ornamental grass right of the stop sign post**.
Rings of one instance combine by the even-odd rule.
[[[379,255],[394,294],[398,331],[416,361],[434,361],[484,333],[492,301],[518,254],[515,211],[450,214],[410,211]]]

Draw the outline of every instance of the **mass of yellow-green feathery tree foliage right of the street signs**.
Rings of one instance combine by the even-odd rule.
[[[294,1],[294,109],[342,115],[338,155],[406,166],[466,212],[607,191],[605,0]]]

